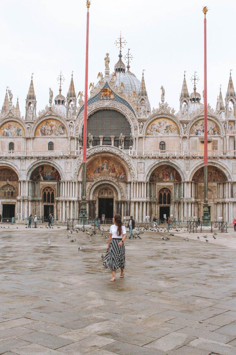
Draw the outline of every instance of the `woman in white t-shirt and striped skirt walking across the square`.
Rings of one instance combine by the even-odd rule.
[[[115,281],[116,271],[121,269],[120,278],[125,276],[125,245],[126,228],[122,225],[121,215],[115,214],[113,225],[110,227],[110,237],[107,246],[107,253],[103,259],[103,265],[111,270],[112,278]]]

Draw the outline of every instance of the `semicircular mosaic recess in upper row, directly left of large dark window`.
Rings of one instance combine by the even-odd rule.
[[[44,126],[48,126],[48,128]],[[64,128],[63,128],[64,127]],[[40,133],[41,131],[41,133]],[[44,134],[45,133],[45,134]],[[38,119],[33,128],[31,135],[33,137],[69,137],[70,129],[65,120],[58,116],[43,116]]]

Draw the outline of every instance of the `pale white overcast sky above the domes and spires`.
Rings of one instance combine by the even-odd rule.
[[[104,57],[110,54],[110,70],[118,60],[115,40],[120,31],[133,60],[130,70],[145,83],[152,107],[159,107],[161,85],[165,99],[179,109],[179,94],[186,70],[189,93],[190,81],[197,71],[197,91],[203,88],[203,18],[202,6],[207,5],[208,102],[215,108],[219,86],[223,98],[229,81],[229,71],[236,87],[235,0],[92,0],[90,8],[90,44],[88,83],[97,82],[97,74],[105,69]],[[57,77],[62,71],[66,96],[71,71],[75,89],[84,91],[85,0],[11,0],[1,1],[1,86],[0,108],[6,86],[13,93],[13,103],[19,96],[21,114],[25,115],[25,98],[31,72],[37,112],[48,104],[49,87],[58,93]],[[124,60],[125,62],[125,60]]]

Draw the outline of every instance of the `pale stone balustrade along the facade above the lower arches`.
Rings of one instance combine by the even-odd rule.
[[[130,150],[122,149],[122,151],[131,157],[203,157],[203,150]],[[82,154],[80,151],[0,151],[0,157],[61,157],[73,156],[77,157]],[[236,151],[214,150],[208,151],[208,157],[236,157]]]

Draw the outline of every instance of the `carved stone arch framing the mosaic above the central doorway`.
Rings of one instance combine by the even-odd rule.
[[[136,168],[134,166],[134,163],[132,162],[131,158],[122,151],[122,149],[116,148],[116,147],[106,147],[106,146],[96,146],[93,148],[90,148],[87,150],[87,158],[90,158],[92,155],[97,154],[97,153],[110,153],[110,154],[114,154],[117,157],[119,157],[121,160],[124,161],[124,166],[127,169],[127,165],[129,168],[129,171],[127,169],[127,181],[134,181],[137,180],[137,171]],[[74,165],[72,174],[71,174],[71,178],[73,180],[77,179],[77,175],[79,174],[79,170],[81,168],[81,164],[82,164],[82,156],[80,156]]]

